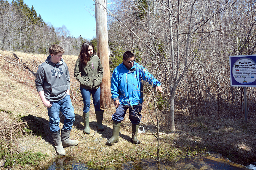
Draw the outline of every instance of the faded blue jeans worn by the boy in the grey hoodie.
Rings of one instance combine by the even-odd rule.
[[[52,107],[48,109],[49,116],[49,125],[51,132],[56,132],[60,130],[60,111],[65,116],[65,120],[63,122],[63,130],[71,130],[73,123],[75,121],[75,113],[74,108],[71,103],[70,96],[67,95],[64,99],[59,100],[57,102],[50,102]]]

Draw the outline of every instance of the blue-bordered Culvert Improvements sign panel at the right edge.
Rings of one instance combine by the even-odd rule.
[[[229,56],[231,86],[256,86],[256,55]]]

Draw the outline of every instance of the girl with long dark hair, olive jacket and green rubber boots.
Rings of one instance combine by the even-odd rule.
[[[84,133],[90,133],[89,110],[91,104],[91,94],[97,119],[96,127],[104,131],[102,125],[103,110],[100,109],[100,84],[103,77],[103,68],[100,59],[94,55],[94,45],[91,42],[84,42],[79,58],[76,60],[74,77],[80,83],[80,90],[84,101]],[[81,73],[81,75],[80,75]]]

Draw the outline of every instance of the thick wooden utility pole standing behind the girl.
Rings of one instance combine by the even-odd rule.
[[[105,1],[95,0],[96,17],[96,36],[97,36],[97,55],[103,66],[103,78],[100,85],[100,104],[102,108],[111,107],[110,92],[110,70],[109,70],[109,51],[108,51],[108,25],[107,13],[105,11]]]

